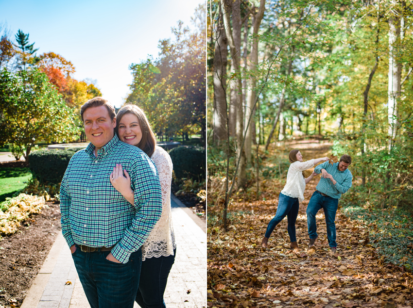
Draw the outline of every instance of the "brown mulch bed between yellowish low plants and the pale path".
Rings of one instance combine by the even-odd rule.
[[[32,215],[15,234],[0,241],[0,307],[20,307],[61,232],[58,204]]]

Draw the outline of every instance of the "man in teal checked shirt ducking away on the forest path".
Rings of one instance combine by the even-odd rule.
[[[315,215],[323,208],[326,217],[328,245],[333,253],[337,250],[336,224],[334,220],[339,199],[342,194],[350,189],[352,184],[353,176],[350,170],[347,169],[350,164],[351,157],[343,155],[340,158],[340,162],[334,164],[324,162],[314,169],[315,173],[321,173],[321,178],[307,207],[307,225],[310,236],[309,248],[314,246],[315,240],[318,238]]]

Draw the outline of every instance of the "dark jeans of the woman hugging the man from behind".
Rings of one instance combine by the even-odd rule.
[[[149,258],[142,261],[139,288],[136,302],[141,308],[165,308],[163,294],[165,293],[168,275],[175,261],[176,249],[173,256]]]

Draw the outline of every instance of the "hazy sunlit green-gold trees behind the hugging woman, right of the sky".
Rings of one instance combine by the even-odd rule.
[[[174,40],[159,42],[159,58],[130,69],[134,80],[127,101],[135,102],[147,114],[160,134],[201,133],[206,138],[205,24],[200,5],[193,22],[195,30],[182,22],[172,28]]]

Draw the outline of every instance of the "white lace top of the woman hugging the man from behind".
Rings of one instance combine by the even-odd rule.
[[[142,261],[146,258],[168,257],[173,255],[175,235],[172,227],[171,216],[171,182],[172,160],[169,154],[160,146],[155,147],[151,157],[159,173],[162,189],[162,214],[149,237],[142,245]]]

